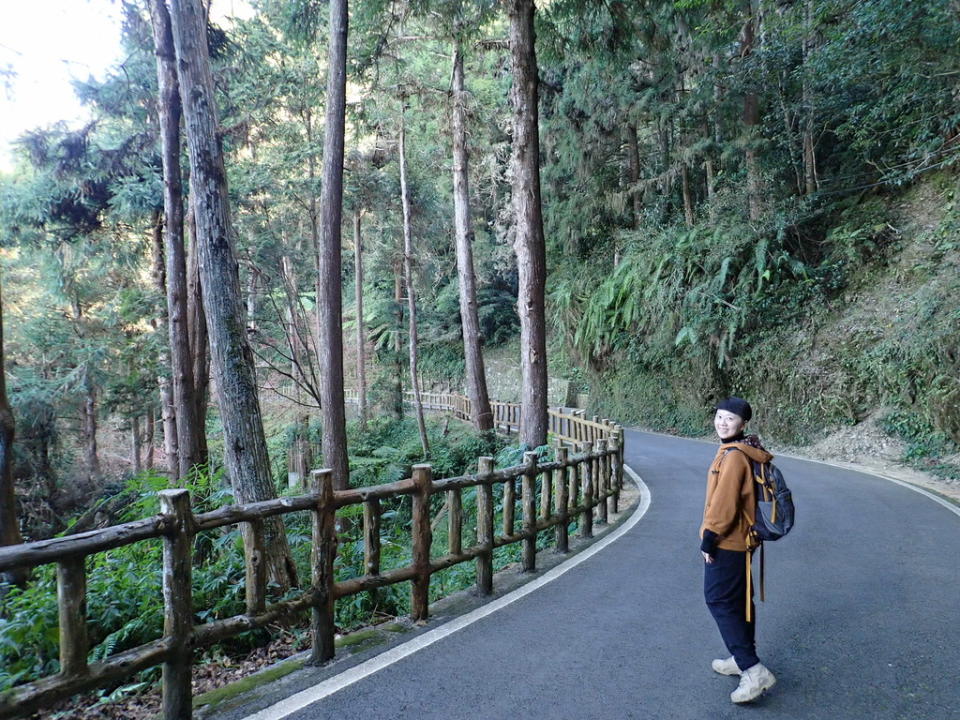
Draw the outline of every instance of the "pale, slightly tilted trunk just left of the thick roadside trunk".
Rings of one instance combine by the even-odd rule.
[[[467,372],[470,419],[480,432],[493,429],[493,413],[487,394],[487,375],[480,346],[477,317],[477,279],[473,271],[473,223],[470,218],[469,161],[466,128],[466,91],[463,78],[463,48],[459,37],[453,54],[453,214],[457,236],[457,279],[460,283],[460,322]]]

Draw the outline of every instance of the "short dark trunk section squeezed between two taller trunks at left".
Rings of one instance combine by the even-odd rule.
[[[203,311],[203,286],[200,283],[200,256],[197,252],[197,219],[193,195],[188,203],[187,228],[190,234],[187,253],[187,326],[193,363],[194,417],[197,422],[198,462],[206,465],[209,459],[206,427],[207,399],[210,392],[210,348],[207,316]]]

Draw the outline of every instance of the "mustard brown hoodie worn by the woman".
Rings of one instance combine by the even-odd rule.
[[[747,538],[756,520],[757,506],[750,461],[764,463],[772,458],[766,450],[743,442],[720,445],[707,473],[701,538],[705,531],[710,531],[716,534],[714,547],[740,552],[748,549]]]

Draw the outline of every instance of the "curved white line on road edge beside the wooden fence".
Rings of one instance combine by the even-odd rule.
[[[510,605],[520,598],[529,595],[547,583],[556,580],[568,570],[572,570],[580,563],[596,555],[611,543],[616,542],[634,525],[640,522],[640,519],[650,508],[650,489],[629,465],[624,464],[623,468],[630,475],[630,477],[636,483],[637,488],[640,490],[640,502],[637,503],[637,508],[633,511],[633,514],[607,537],[598,540],[583,552],[577,553],[569,560],[566,560],[560,565],[551,568],[541,577],[537,578],[536,580],[531,580],[523,587],[519,587],[503,597],[497,598],[496,600],[487,603],[483,607],[479,607],[476,610],[467,613],[466,615],[462,615],[461,617],[455,618],[450,622],[444,623],[443,625],[440,625],[429,632],[418,635],[402,645],[397,645],[396,647],[393,647],[386,652],[377,655],[376,657],[372,657],[369,660],[350,668],[349,670],[345,670],[339,675],[334,675],[331,678],[327,678],[323,682],[318,683],[307,690],[303,690],[295,695],[291,695],[290,697],[285,698],[284,700],[281,700],[270,707],[264,708],[253,715],[248,715],[246,718],[244,718],[244,720],[280,720],[281,718],[292,715],[298,710],[302,710],[318,700],[329,697],[335,692],[353,685],[354,683],[359,682],[360,680],[363,680],[364,678],[369,677],[380,670],[383,670],[384,668],[392,665],[395,662],[398,662],[399,660],[402,660],[409,655],[413,655],[413,653],[417,652],[418,650],[422,650],[428,645],[432,645],[438,640],[442,640],[458,630],[462,630],[468,625],[472,625],[478,620],[481,620],[488,615],[505,608],[507,605]]]

